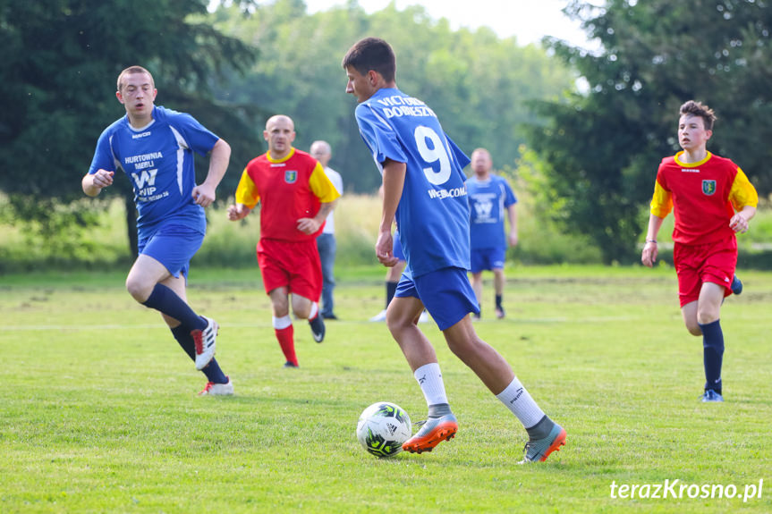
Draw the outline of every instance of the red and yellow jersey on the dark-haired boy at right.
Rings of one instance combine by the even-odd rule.
[[[674,242],[697,245],[734,238],[729,228],[735,210],[756,206],[759,196],[737,164],[708,152],[699,163],[662,159],[651,214],[664,218],[674,209]]]

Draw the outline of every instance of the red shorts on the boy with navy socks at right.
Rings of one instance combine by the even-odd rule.
[[[681,307],[700,298],[703,282],[724,286],[724,296],[732,294],[732,279],[737,266],[737,240],[721,240],[704,245],[675,243],[675,273]]]

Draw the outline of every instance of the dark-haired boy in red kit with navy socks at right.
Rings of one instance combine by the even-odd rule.
[[[735,232],[746,232],[759,197],[737,164],[706,149],[716,115],[708,105],[681,105],[678,142],[683,148],[662,159],[651,199],[643,265],[657,260],[657,232],[674,209],[673,260],[683,323],[702,336],[705,392],[702,401],[724,401],[721,365],[724,333],[721,304],[732,293],[737,265]],[[736,211],[736,212],[735,212]]]

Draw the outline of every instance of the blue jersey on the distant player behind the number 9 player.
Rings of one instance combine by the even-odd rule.
[[[504,214],[517,203],[509,183],[496,175],[466,181],[471,206],[471,249],[506,248]]]

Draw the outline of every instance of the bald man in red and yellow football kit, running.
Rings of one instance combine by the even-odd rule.
[[[295,149],[295,128],[289,116],[268,119],[263,137],[268,151],[247,164],[236,188],[228,219],[237,221],[260,202],[258,263],[273,309],[276,339],[284,367],[298,367],[289,294],[295,316],[308,319],[314,341],[325,337],[319,316],[322,267],[317,236],[340,196],[316,159]]]

